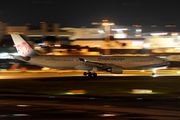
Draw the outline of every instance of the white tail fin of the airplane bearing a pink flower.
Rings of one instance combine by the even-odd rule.
[[[31,46],[18,34],[11,34],[13,42],[16,46],[18,53],[22,56],[37,56],[36,53]]]

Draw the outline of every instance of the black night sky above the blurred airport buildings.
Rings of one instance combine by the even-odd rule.
[[[0,0],[0,21],[10,25],[59,23],[91,27],[108,19],[116,25],[180,26],[178,0]]]

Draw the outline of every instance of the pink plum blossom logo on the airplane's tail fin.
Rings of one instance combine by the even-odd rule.
[[[21,44],[17,45],[17,50],[21,54],[29,53],[30,49],[31,47],[26,42],[22,42]]]

